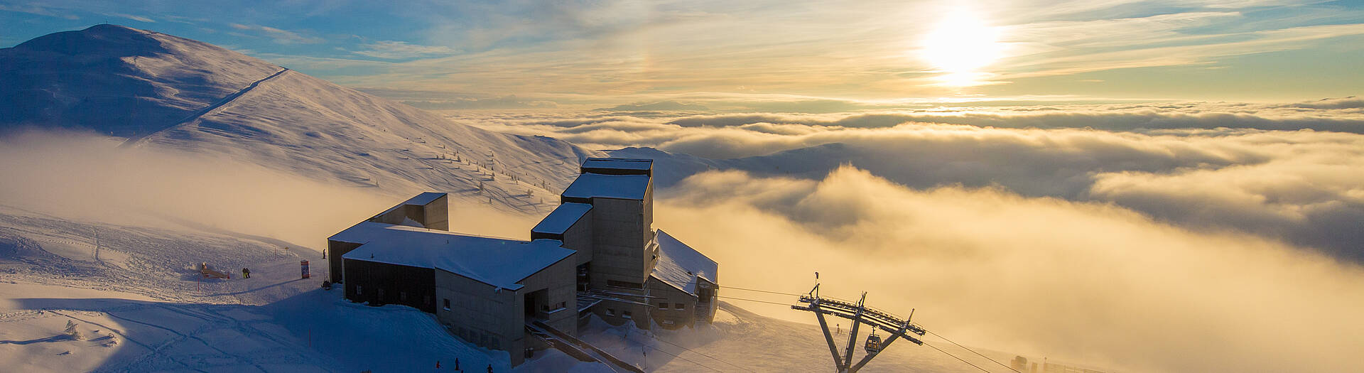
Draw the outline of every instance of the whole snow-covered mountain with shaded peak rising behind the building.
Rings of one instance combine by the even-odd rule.
[[[131,146],[228,156],[390,194],[441,190],[544,212],[552,201],[543,197],[566,184],[581,158],[600,156],[554,138],[453,123],[210,44],[123,26],[0,49],[0,128],[90,130]]]

